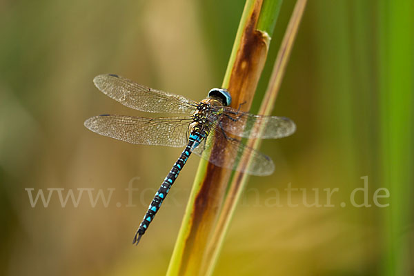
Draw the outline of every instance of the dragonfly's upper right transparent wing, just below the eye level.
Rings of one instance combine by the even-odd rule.
[[[286,117],[253,115],[227,106],[222,112],[221,128],[239,137],[277,139],[292,135],[296,130],[295,123]],[[257,126],[263,126],[263,131]]]

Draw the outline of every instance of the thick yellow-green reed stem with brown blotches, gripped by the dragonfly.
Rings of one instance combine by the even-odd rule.
[[[232,95],[231,106],[239,108],[244,103],[242,110],[250,108],[268,52],[270,37],[256,30],[262,3],[262,0],[246,1],[223,82],[223,87]],[[215,148],[226,150],[225,141],[214,142]],[[168,275],[205,274],[206,270],[201,269],[201,264],[231,172],[201,160],[170,259]]]

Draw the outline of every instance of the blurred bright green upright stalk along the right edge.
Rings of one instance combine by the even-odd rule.
[[[382,179],[388,188],[383,275],[409,275],[412,266],[414,5],[411,0],[378,5]]]

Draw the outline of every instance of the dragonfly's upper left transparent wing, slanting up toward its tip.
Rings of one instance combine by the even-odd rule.
[[[99,75],[93,82],[104,94],[124,106],[145,112],[191,114],[197,104],[185,97],[141,86],[118,75]]]

